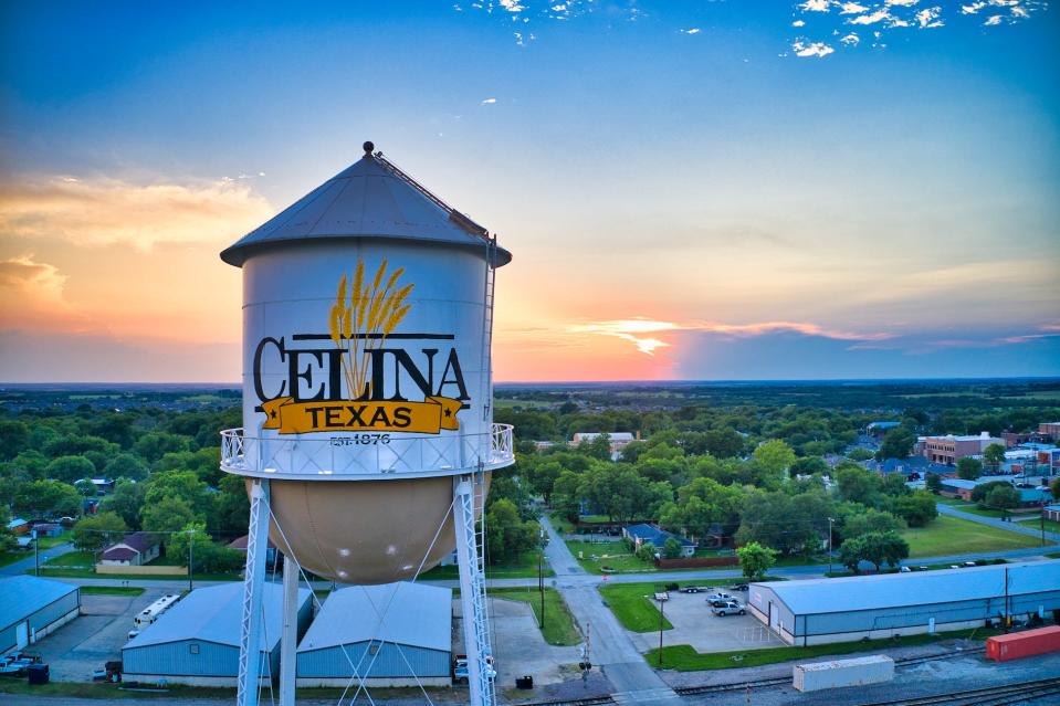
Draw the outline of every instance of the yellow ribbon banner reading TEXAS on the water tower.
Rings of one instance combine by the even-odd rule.
[[[281,397],[262,403],[264,429],[281,434],[308,432],[387,431],[437,434],[460,429],[460,401],[429,397],[422,402],[295,402]]]

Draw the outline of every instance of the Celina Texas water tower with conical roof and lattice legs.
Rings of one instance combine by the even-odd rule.
[[[514,462],[490,352],[494,271],[512,256],[372,150],[221,253],[243,270],[243,428],[221,434],[221,468],[251,498],[241,706],[258,703],[269,538],[285,559],[282,705],[300,567],[414,580],[454,547],[471,703],[494,702],[482,507]]]

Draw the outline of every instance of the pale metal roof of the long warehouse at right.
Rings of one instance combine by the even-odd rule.
[[[767,588],[796,614],[951,603],[1060,590],[1060,559],[967,569],[753,583]]]

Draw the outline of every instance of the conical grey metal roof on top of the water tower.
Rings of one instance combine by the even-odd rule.
[[[345,238],[397,239],[481,247],[489,231],[428,191],[365,143],[365,156],[221,252],[242,266],[252,252],[276,243]],[[496,266],[512,254],[496,247]]]

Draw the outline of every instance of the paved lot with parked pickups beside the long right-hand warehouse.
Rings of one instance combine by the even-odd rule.
[[[723,590],[741,603],[746,591]],[[655,603],[658,605],[658,603]],[[779,647],[784,643],[752,615],[714,615],[706,593],[670,593],[664,609],[673,630],[663,632],[663,644],[692,645],[696,652],[734,652]],[[630,633],[633,644],[643,652],[659,646],[659,633]]]

